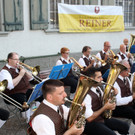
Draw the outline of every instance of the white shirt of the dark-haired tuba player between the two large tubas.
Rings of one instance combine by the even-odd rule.
[[[91,90],[99,96],[99,93],[97,93],[96,88],[97,88],[97,87],[92,87]],[[103,91],[100,89],[100,87],[98,87],[98,88],[99,88],[99,90],[101,91],[101,94],[102,94],[102,96],[103,96]],[[87,94],[83,102],[84,102],[84,104],[85,104],[85,106],[86,106],[85,117],[86,117],[86,119],[87,119],[87,118],[89,118],[90,116],[93,115],[93,110],[92,110],[92,97],[91,97],[89,94]]]

